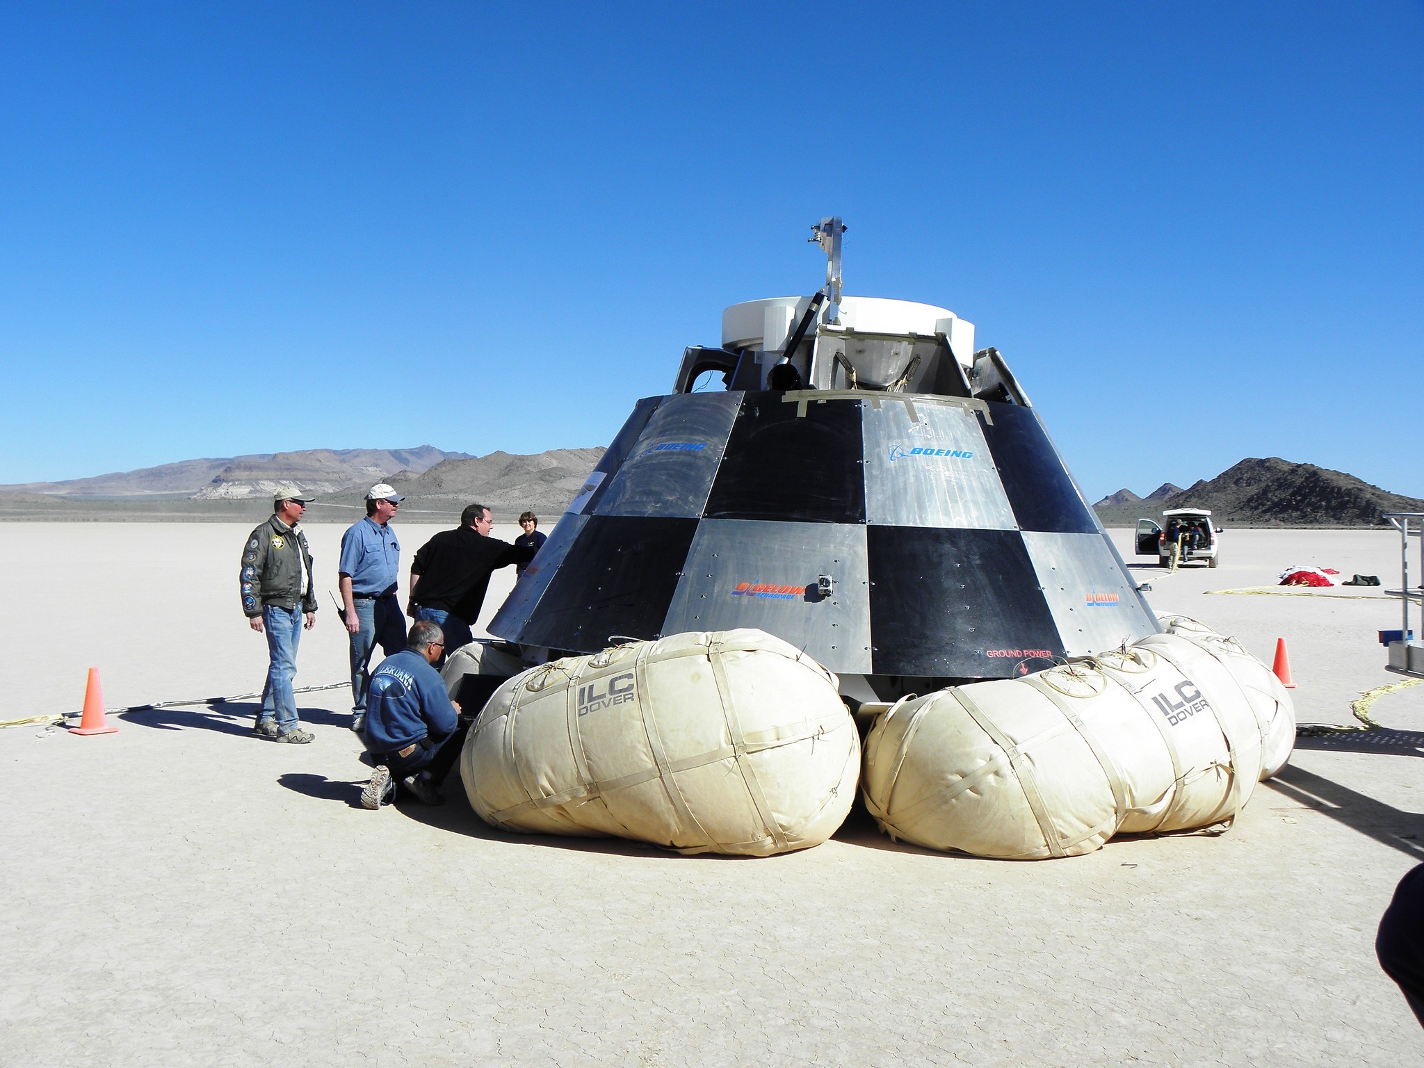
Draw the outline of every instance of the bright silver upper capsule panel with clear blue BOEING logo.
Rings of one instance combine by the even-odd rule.
[[[931,397],[907,400],[862,406],[866,523],[1014,530],[977,410]]]

